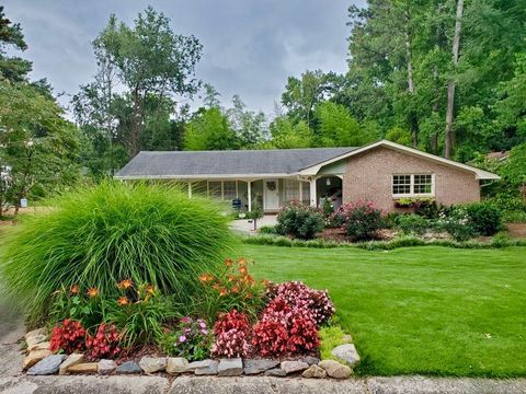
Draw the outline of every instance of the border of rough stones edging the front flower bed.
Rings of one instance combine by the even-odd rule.
[[[102,359],[98,362],[88,362],[82,354],[54,355],[47,341],[48,333],[38,328],[25,334],[27,356],[23,369],[27,375],[66,375],[66,374],[101,374],[101,375],[136,375],[168,373],[170,375],[213,375],[241,376],[264,375],[273,378],[302,376],[307,379],[348,379],[359,362],[359,356],[354,344],[346,343],[336,346],[332,356],[336,360],[319,360],[312,356],[297,360],[276,361],[272,359],[206,359],[188,362],[182,357],[142,356],[136,362],[125,361],[122,364],[113,360]],[[351,336],[345,340],[351,341]]]

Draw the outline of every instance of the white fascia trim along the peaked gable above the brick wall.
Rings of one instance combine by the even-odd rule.
[[[311,165],[309,167],[302,169],[299,172],[299,175],[306,175],[306,176],[316,175],[316,174],[318,174],[320,169],[324,165],[328,165],[328,164],[334,163],[336,161],[353,157],[355,154],[359,154],[362,152],[368,151],[368,150],[377,148],[377,147],[388,147],[388,148],[391,148],[393,150],[397,150],[397,151],[400,151],[400,152],[403,152],[403,153],[408,153],[408,154],[412,154],[412,155],[415,155],[415,157],[424,158],[424,159],[427,159],[427,160],[431,160],[431,161],[434,161],[434,162],[437,162],[437,163],[441,163],[441,164],[444,164],[444,165],[448,165],[448,166],[451,166],[451,167],[469,171],[469,172],[472,172],[474,174],[474,177],[477,179],[500,179],[501,178],[499,175],[490,173],[488,171],[480,170],[480,169],[473,167],[471,165],[458,163],[456,161],[445,159],[445,158],[441,158],[438,155],[431,154],[431,153],[427,153],[427,152],[422,152],[418,149],[409,148],[409,147],[405,147],[405,146],[402,146],[402,144],[399,144],[399,143],[396,143],[396,142],[392,142],[392,141],[388,141],[388,140],[380,140],[380,141],[364,146],[362,148],[358,148],[354,151],[351,151],[351,152],[341,154],[339,157],[332,158],[328,161],[324,161],[324,162],[318,163],[316,165]]]

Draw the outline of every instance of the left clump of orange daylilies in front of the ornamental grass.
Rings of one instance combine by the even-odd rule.
[[[123,333],[123,344],[130,348],[159,341],[163,325],[175,317],[170,299],[153,285],[135,287],[130,279],[123,280],[118,288],[121,296],[107,303],[105,320]]]

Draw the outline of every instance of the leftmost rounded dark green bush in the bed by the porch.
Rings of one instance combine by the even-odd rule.
[[[323,230],[323,218],[315,208],[293,201],[277,215],[276,230],[282,235],[311,240]]]

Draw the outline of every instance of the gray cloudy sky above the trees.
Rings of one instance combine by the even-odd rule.
[[[151,4],[180,34],[203,44],[197,78],[221,100],[238,93],[252,109],[272,112],[288,76],[305,70],[344,72],[347,8],[364,0],[4,0],[20,22],[34,79],[47,78],[57,93],[73,94],[94,73],[91,40],[115,13],[132,23]],[[62,102],[66,100],[62,99]]]

